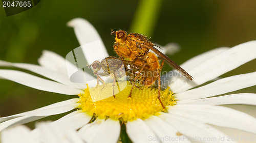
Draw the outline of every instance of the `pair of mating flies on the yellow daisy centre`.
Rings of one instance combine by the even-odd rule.
[[[127,35],[127,33],[122,30],[116,32],[113,31],[111,33],[111,35],[114,34],[116,37],[113,47],[119,58],[110,56],[101,62],[95,61],[89,66],[92,67],[94,74],[98,77],[98,80],[103,82],[98,75],[109,76],[111,73],[121,68],[122,64],[120,64],[120,62],[122,62],[125,68],[125,73],[119,73],[118,76],[122,77],[126,74],[131,77],[130,81],[132,82],[132,89],[129,97],[132,96],[133,88],[136,86],[136,81],[139,81],[140,84],[143,84],[146,87],[151,87],[158,80],[158,99],[163,107],[164,105],[160,99],[160,72],[164,62],[177,70],[187,79],[193,80],[193,77],[184,69],[155,48],[154,46],[156,45],[148,40],[147,37],[138,33],[130,33]],[[160,60],[163,60],[161,64],[159,62]],[[98,73],[101,68],[104,73]],[[117,77],[115,76],[114,79],[116,78]]]

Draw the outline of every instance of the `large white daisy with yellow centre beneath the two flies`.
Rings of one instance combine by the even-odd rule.
[[[74,27],[80,45],[101,41],[95,28],[84,19],[73,19],[68,25]],[[103,52],[108,56],[104,45],[102,46]],[[89,55],[86,58],[93,57]],[[165,87],[169,87],[161,91],[161,100],[166,109],[162,108],[157,99],[158,91],[155,88],[134,88],[132,98],[128,99],[130,84],[116,94],[116,98],[93,102],[90,92],[104,96],[112,89],[112,83],[106,83],[104,90],[92,88],[89,92],[86,84],[69,80],[65,59],[51,51],[43,52],[39,58],[40,66],[0,61],[1,66],[30,70],[52,80],[16,70],[0,70],[0,77],[4,79],[38,90],[79,96],[2,117],[0,130],[76,109],[51,124],[63,130],[78,130],[78,135],[86,142],[235,142],[236,140],[228,138],[212,125],[256,134],[255,118],[244,112],[219,106],[256,105],[256,94],[228,94],[256,85],[256,72],[202,84],[255,58],[256,41],[250,41],[232,48],[213,49],[188,60],[181,67],[194,77],[193,81],[185,79],[176,71],[170,71],[161,78]],[[253,137],[250,139],[255,141]]]

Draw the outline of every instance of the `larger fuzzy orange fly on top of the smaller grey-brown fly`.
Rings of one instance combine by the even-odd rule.
[[[147,37],[138,33],[130,33],[127,35],[125,31],[112,31],[111,35],[116,35],[114,50],[117,55],[125,60],[134,63],[137,67],[141,67],[140,70],[136,73],[136,77],[133,80],[132,90],[130,92],[129,97],[132,96],[132,91],[137,79],[140,79],[144,82],[144,85],[147,87],[152,86],[156,80],[158,80],[158,99],[163,103],[160,99],[160,72],[162,70],[162,66],[164,62],[166,62],[170,67],[177,70],[183,76],[185,76],[189,80],[193,80],[193,77],[190,76],[184,69],[182,69],[179,65],[177,65],[174,61],[170,60],[168,56],[160,52],[155,44],[153,44]],[[152,50],[153,52],[150,52]],[[159,60],[163,60],[162,63],[159,63]],[[143,71],[147,71],[147,74],[142,73]],[[152,72],[151,75],[148,76],[148,72]],[[141,82],[141,81],[140,81]],[[164,107],[164,106],[163,106]]]

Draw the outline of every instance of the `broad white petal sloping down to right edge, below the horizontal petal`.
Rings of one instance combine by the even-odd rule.
[[[184,105],[169,106],[168,112],[202,123],[240,129],[256,133],[256,119],[244,112],[223,106]]]

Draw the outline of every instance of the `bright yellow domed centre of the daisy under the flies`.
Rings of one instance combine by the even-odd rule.
[[[84,93],[78,95],[80,97],[79,108],[90,116],[94,115],[100,119],[122,119],[124,122],[133,121],[137,118],[146,119],[152,115],[159,115],[159,112],[165,110],[157,99],[157,88],[135,87],[132,97],[128,98],[132,87],[131,83],[123,81],[118,82],[118,84],[126,85],[126,87],[115,94],[115,98],[111,96],[96,102],[93,102],[90,93],[96,93],[99,97],[105,96],[106,93],[113,92],[113,83],[106,83],[104,87],[101,85],[97,88],[85,89]],[[168,88],[160,93],[164,106],[176,103]]]

